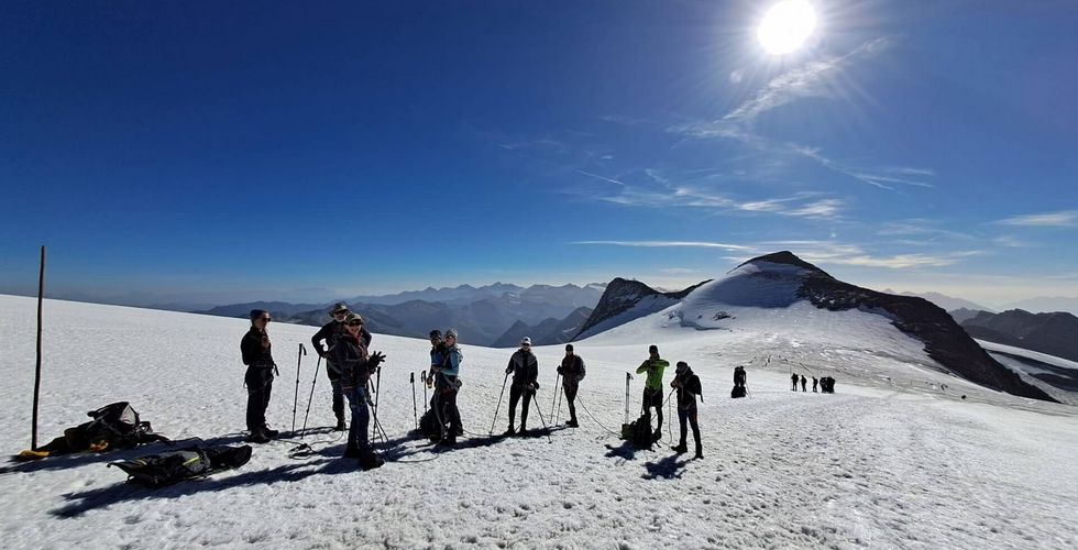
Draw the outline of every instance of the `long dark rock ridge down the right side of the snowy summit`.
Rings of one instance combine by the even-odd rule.
[[[805,271],[798,296],[832,311],[860,309],[881,311],[899,330],[924,342],[925,352],[950,372],[992,389],[1022,397],[1055,402],[1040,388],[992,359],[938,306],[914,296],[883,294],[843,283],[791,252],[777,252],[750,260],[802,267]],[[744,265],[744,264],[743,264]]]

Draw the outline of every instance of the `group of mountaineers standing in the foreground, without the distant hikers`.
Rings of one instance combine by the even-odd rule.
[[[364,328],[363,318],[344,302],[338,302],[330,310],[332,321],[328,322],[311,337],[311,344],[321,359],[326,361],[326,374],[329,377],[333,395],[333,415],[337,417],[337,431],[348,429],[348,443],[344,457],[359,459],[364,470],[378,468],[384,460],[371,447],[369,440],[371,413],[373,406],[369,383],[377,372],[378,365],[385,361],[381,352],[371,352],[371,332]],[[250,436],[248,442],[265,443],[278,437],[266,424],[266,407],[276,364],[273,360],[272,343],[266,326],[271,321],[268,311],[254,309],[251,311],[251,328],[243,336],[240,350],[243,363],[248,366],[244,383],[248,388],[246,426]],[[463,352],[457,343],[455,329],[430,331],[430,369],[424,374],[424,382],[435,388],[430,399],[430,410],[436,419],[433,428],[438,446],[452,447],[457,438],[464,433],[457,396],[460,392],[460,367]],[[649,358],[637,369],[638,374],[647,374],[644,391],[642,409],[647,413],[656,409],[659,420],[654,439],[661,438],[662,426],[662,375],[670,363],[659,356],[656,345],[649,348]],[[696,443],[695,457],[703,458],[703,447],[700,437],[700,426],[696,413],[696,396],[701,395],[700,377],[689,364],[681,361],[676,364],[676,374],[670,383],[671,392],[678,393],[678,420],[681,427],[681,442],[673,447],[678,453],[688,452],[686,436],[691,426]],[[743,371],[744,372],[744,371]],[[529,404],[536,400],[539,389],[539,361],[531,351],[531,339],[524,338],[520,348],[513,353],[505,367],[506,380],[513,375],[509,386],[509,426],[505,436],[527,436]],[[576,418],[576,395],[580,383],[584,380],[586,369],[584,360],[574,353],[573,344],[565,345],[565,355],[558,366],[562,378],[562,389],[569,405],[569,420],[565,426],[580,426]],[[743,382],[744,384],[744,382]],[[503,393],[504,393],[503,385]],[[344,403],[351,410],[351,421],[345,422]],[[522,400],[522,403],[521,403]],[[520,406],[519,429],[516,428],[516,410]],[[538,407],[538,402],[537,402]],[[540,414],[541,415],[541,414]],[[420,422],[422,424],[422,422]]]

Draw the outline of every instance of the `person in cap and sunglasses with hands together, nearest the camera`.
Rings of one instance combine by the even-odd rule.
[[[371,410],[367,406],[371,398],[367,395],[367,381],[378,365],[385,361],[385,355],[375,352],[370,354],[362,338],[363,318],[355,314],[344,317],[344,333],[337,340],[331,350],[333,364],[340,370],[341,391],[348,398],[352,409],[352,422],[348,430],[348,444],[344,457],[359,459],[360,468],[372,470],[385,463],[374,453],[367,433],[371,424]]]

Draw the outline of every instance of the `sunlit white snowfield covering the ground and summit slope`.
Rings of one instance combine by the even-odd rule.
[[[157,491],[127,485],[105,464],[160,443],[7,463],[0,537],[8,548],[1078,547],[1078,409],[947,375],[882,316],[805,306],[723,305],[733,318],[701,330],[683,316],[712,309],[678,305],[578,342],[587,362],[581,405],[594,419],[581,407],[581,428],[558,429],[550,442],[462,439],[437,453],[405,439],[408,373],[426,365],[427,342],[375,334],[373,349],[388,356],[380,416],[394,459],[382,469],[358,471],[326,432],[307,437],[314,457],[290,459],[288,441],[256,446],[242,469]],[[45,316],[42,440],[120,399],[173,439],[242,439],[245,320],[54,300]],[[0,437],[11,453],[29,446],[34,320],[35,300],[0,296]],[[267,416],[278,428],[290,425],[297,344],[314,330],[270,327],[282,376]],[[510,350],[462,340],[465,428],[486,433]],[[650,343],[701,376],[703,460],[632,451],[598,425],[622,422],[625,372]],[[551,421],[562,351],[536,353]],[[302,363],[300,421],[312,358]],[[748,365],[749,397],[729,399],[737,364]],[[837,393],[790,392],[791,371],[833,375]],[[641,387],[636,377],[634,410]],[[315,389],[311,425],[329,426],[322,374]],[[530,424],[539,426],[535,409]]]

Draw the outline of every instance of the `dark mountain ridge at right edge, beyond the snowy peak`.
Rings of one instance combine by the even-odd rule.
[[[1078,361],[1078,317],[1067,312],[980,311],[963,328],[974,338]]]

